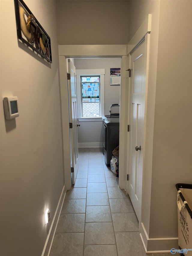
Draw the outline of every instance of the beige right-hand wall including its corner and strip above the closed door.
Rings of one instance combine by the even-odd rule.
[[[162,238],[178,237],[175,184],[192,183],[192,2],[131,1],[130,11],[130,36],[152,14],[143,184],[146,248],[170,250],[178,241],[166,245]]]

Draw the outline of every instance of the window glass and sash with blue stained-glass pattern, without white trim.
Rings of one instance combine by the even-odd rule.
[[[101,116],[100,76],[81,76],[82,117]]]

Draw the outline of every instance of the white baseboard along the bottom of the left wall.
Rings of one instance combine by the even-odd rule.
[[[64,184],[63,189],[61,191],[61,196],[60,196],[58,204],[57,204],[55,215],[53,217],[53,221],[51,223],[51,227],[49,229],[49,233],[48,233],[48,236],[47,236],[47,239],[46,239],[44,249],[43,249],[43,252],[42,252],[41,256],[49,256],[49,254],[50,254],[53,239],[54,239],[54,236],[55,236],[55,231],[56,231],[57,224],[58,224],[58,221],[59,221],[59,217],[60,217],[60,214],[61,214],[61,209],[63,207],[65,194],[66,194],[66,185]]]

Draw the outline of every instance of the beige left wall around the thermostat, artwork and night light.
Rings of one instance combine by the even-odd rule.
[[[64,185],[54,1],[25,0],[51,38],[52,64],[17,40],[14,1],[1,1],[0,254],[39,256]],[[51,17],[51,18],[50,18]],[[17,96],[6,121],[3,97]],[[44,212],[51,221],[45,226]]]

